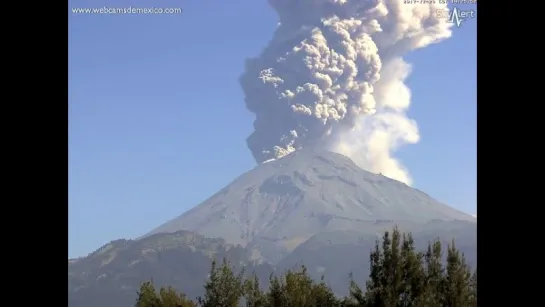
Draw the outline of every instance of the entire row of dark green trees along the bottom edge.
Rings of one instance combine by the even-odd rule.
[[[443,257],[446,254],[446,257]],[[446,258],[446,259],[445,259]],[[171,287],[157,291],[144,282],[136,307],[473,307],[477,306],[477,271],[471,272],[464,255],[439,240],[426,251],[416,251],[411,234],[396,228],[386,232],[370,253],[371,268],[365,287],[350,284],[350,295],[337,297],[322,281],[313,281],[304,266],[281,276],[270,276],[268,289],[254,275],[234,272],[223,260],[212,263],[205,294],[192,300]]]

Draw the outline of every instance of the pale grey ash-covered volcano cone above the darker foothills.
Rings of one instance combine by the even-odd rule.
[[[476,222],[343,155],[310,148],[258,165],[147,235],[186,230],[221,237],[274,261],[319,233],[382,233],[436,220]]]

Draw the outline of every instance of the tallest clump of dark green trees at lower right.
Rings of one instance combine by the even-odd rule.
[[[476,306],[476,272],[471,275],[454,241],[443,265],[439,240],[426,253],[417,252],[412,235],[396,227],[385,232],[370,254],[366,291],[351,280],[346,307],[467,307]],[[352,279],[352,278],[351,278]]]

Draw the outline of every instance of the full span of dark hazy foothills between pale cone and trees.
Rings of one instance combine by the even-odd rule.
[[[380,223],[392,231],[395,224]],[[446,246],[456,240],[471,268],[476,267],[476,223],[431,221],[408,229],[418,250],[442,238]],[[369,276],[369,252],[384,233],[331,231],[316,234],[297,246],[278,263],[255,261],[253,250],[232,245],[221,238],[206,238],[189,231],[159,233],[137,240],[114,240],[87,257],[68,265],[68,293],[71,307],[132,306],[141,282],[153,280],[157,286],[173,286],[191,298],[203,295],[202,284],[208,277],[213,259],[228,260],[238,271],[256,273],[263,286],[271,273],[305,265],[309,276],[322,276],[333,291],[344,296],[349,276],[365,284]]]

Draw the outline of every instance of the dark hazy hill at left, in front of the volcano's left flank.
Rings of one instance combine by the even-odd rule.
[[[191,298],[203,294],[212,259],[229,259],[238,268],[268,276],[267,264],[253,264],[247,250],[222,239],[187,231],[141,240],[116,240],[85,258],[68,263],[68,305],[73,307],[134,306],[143,281],[170,285]]]

